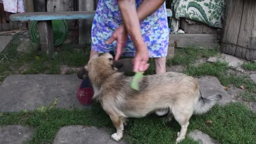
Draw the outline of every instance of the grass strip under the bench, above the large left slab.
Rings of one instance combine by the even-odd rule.
[[[19,37],[14,36],[9,48],[0,53],[0,81],[11,74],[60,74],[60,65],[82,67],[89,58],[89,46],[77,49],[64,45],[53,56],[48,56],[37,53],[33,45],[29,46],[29,52],[18,53],[19,43]]]

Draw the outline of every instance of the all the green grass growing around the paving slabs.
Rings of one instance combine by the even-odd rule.
[[[17,53],[19,38],[14,37],[10,48],[0,53],[0,80],[11,74],[59,74],[60,65],[81,67],[88,61],[89,48],[74,49],[62,46],[57,53],[50,57],[36,53],[33,48],[29,53]],[[203,63],[193,66],[197,59],[208,58],[218,54],[218,49],[200,50],[196,47],[176,48],[173,59],[167,60],[167,65],[181,64],[186,69],[184,73],[191,76],[216,76],[222,85],[243,86],[245,91],[241,93],[245,101],[256,101],[256,85],[248,76],[237,76],[228,73],[227,63],[220,61]],[[155,74],[154,61],[149,59],[150,67],[145,75]],[[21,69],[27,65],[26,69]],[[243,67],[247,70],[254,69],[252,63],[246,63]],[[20,70],[21,69],[21,70]],[[68,70],[66,74],[74,74]],[[127,73],[133,75],[133,72]],[[211,120],[212,123],[205,123]],[[39,110],[22,112],[0,112],[0,125],[29,125],[35,128],[33,139],[29,144],[53,143],[59,128],[66,125],[85,125],[107,127],[115,131],[109,116],[101,109],[98,103],[93,103],[91,109],[60,109],[52,108],[45,112]],[[256,141],[256,115],[248,107],[241,103],[230,103],[224,107],[216,105],[207,114],[192,116],[188,133],[198,129],[203,131],[223,144],[253,144]],[[125,128],[124,139],[135,144],[174,144],[179,124],[173,120],[167,122],[158,119],[155,115],[145,118],[133,118]],[[110,136],[111,133],[109,133]],[[197,144],[188,136],[181,144]]]

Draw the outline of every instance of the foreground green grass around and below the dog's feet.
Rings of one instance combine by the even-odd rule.
[[[213,123],[207,124],[205,121]],[[216,105],[205,115],[192,116],[189,131],[198,129],[209,134],[223,144],[253,144],[256,141],[256,115],[241,103],[231,103],[224,107]],[[1,112],[0,125],[30,125],[35,134],[29,144],[52,143],[59,128],[66,125],[108,127],[115,131],[109,116],[99,103],[92,109],[66,110],[49,109],[46,112]],[[132,144],[174,144],[180,125],[172,120],[167,122],[149,115],[131,118],[124,136]],[[109,136],[112,133],[109,133]],[[187,136],[181,144],[196,144]]]

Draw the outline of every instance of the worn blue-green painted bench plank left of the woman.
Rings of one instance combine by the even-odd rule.
[[[12,21],[44,21],[54,19],[93,19],[95,11],[66,11],[66,12],[35,12],[15,13],[10,16]]]

